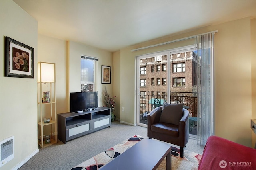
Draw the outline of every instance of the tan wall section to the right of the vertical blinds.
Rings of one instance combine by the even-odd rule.
[[[250,18],[213,27],[218,29],[214,61],[215,134],[251,147]]]

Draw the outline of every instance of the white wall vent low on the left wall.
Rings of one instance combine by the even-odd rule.
[[[1,167],[14,158],[14,136],[2,140],[0,144]]]

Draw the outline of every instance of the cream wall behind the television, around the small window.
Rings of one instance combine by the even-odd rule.
[[[112,67],[112,53],[72,41],[38,35],[38,62],[56,63],[57,114],[70,111],[70,92],[80,92],[81,90],[81,55],[99,59],[99,61],[96,61],[97,76],[94,91],[98,91],[99,106],[104,106],[102,90],[106,86],[112,94],[113,82],[111,84],[101,84],[101,65]]]

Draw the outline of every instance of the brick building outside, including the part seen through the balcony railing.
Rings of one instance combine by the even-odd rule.
[[[154,109],[154,98],[160,104],[167,100],[167,55],[155,56],[140,60],[140,112]],[[184,92],[196,92],[197,56],[193,51],[185,51],[170,55],[170,92],[171,102],[186,104],[191,112],[197,111],[197,102],[185,101],[173,96],[186,96]],[[182,94],[183,93],[183,94]],[[189,94],[191,95],[191,94]],[[183,100],[183,101],[181,101]],[[197,99],[196,99],[197,101]],[[193,105],[193,106],[192,106]],[[195,115],[195,113],[194,113]]]

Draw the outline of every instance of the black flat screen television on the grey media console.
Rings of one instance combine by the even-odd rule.
[[[98,108],[98,92],[70,93],[70,112],[88,111]]]

